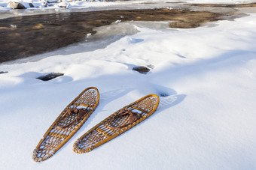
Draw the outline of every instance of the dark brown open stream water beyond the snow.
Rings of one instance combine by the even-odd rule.
[[[189,10],[105,10],[0,19],[0,63],[49,52],[84,39],[93,28],[117,20],[178,20],[173,28],[195,28],[221,14]]]

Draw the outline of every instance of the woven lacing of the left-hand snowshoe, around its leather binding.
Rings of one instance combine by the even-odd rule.
[[[77,118],[78,113],[73,113],[72,115],[66,116],[65,118],[58,118],[53,123],[53,128],[50,130],[50,132],[47,134],[47,136],[44,138],[44,141],[41,143],[41,145],[38,148],[35,148],[33,153],[33,159],[36,162],[41,162],[43,160],[47,160],[50,156],[56,153],[56,148],[63,144],[64,142],[67,142],[66,139],[75,131],[79,130],[81,125],[84,124],[84,121],[87,120],[87,118],[90,116],[90,114],[93,112],[93,106],[96,105],[97,100],[97,91],[94,89],[90,89],[88,91],[85,91],[84,94],[81,95],[81,97],[78,98],[78,100],[75,101],[75,103],[72,104],[70,107],[66,107],[61,113],[63,115],[68,109],[77,109],[77,108],[84,108],[87,109],[87,115],[84,116],[80,121],[76,121],[74,124],[72,124],[69,127],[59,129],[56,126],[56,123],[61,125],[62,127],[66,126],[67,124],[70,124],[70,122],[74,121],[75,118]],[[61,117],[60,115],[60,117]]]

